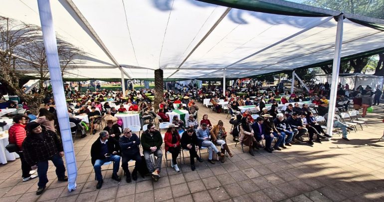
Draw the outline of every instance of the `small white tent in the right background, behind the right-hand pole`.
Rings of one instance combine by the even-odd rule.
[[[332,83],[332,75],[315,75],[316,83]],[[383,88],[384,84],[384,77],[381,76],[374,76],[374,75],[368,75],[368,74],[340,74],[339,75],[339,82],[342,85],[348,84],[350,86],[350,89],[356,89],[360,85],[365,88],[367,85],[371,88]]]

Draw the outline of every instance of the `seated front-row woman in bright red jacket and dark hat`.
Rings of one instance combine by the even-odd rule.
[[[176,127],[179,126],[172,123],[168,125],[168,130],[164,136],[164,143],[166,145],[166,153],[170,152],[172,154],[172,168],[175,168],[176,172],[180,172],[177,162],[177,158],[180,154],[180,135],[176,130]]]

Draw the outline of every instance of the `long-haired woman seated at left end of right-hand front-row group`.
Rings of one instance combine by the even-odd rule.
[[[249,122],[249,119],[247,117],[241,118],[241,124],[240,124],[240,137],[239,142],[240,144],[243,144],[245,146],[249,147],[249,154],[254,156],[253,154],[253,147],[256,145],[256,138],[254,137],[253,129],[251,126],[251,123]]]

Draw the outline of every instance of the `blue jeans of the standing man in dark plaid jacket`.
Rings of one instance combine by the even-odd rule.
[[[55,154],[48,160],[51,160],[53,165],[56,167],[57,178],[65,177],[65,167],[63,159]],[[37,175],[39,176],[39,182],[37,183],[38,187],[45,187],[48,183],[47,172],[48,172],[48,160],[37,162]]]

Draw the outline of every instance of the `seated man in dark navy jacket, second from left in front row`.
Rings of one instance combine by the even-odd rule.
[[[122,163],[121,167],[123,168],[125,174],[127,175],[126,181],[127,183],[131,182],[131,174],[128,169],[128,162],[130,160],[135,161],[135,168],[133,169],[132,172],[132,179],[134,181],[137,180],[137,172],[141,170],[141,156],[140,156],[140,139],[139,137],[135,134],[132,133],[132,130],[129,128],[124,128],[123,130],[123,136],[120,137],[119,139],[119,145],[121,149],[121,158]],[[144,178],[144,175],[142,175]]]

